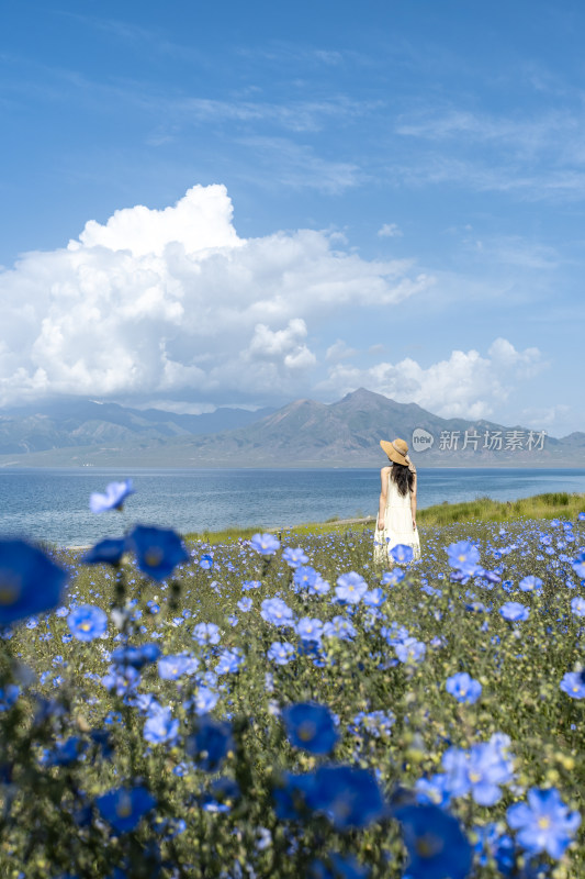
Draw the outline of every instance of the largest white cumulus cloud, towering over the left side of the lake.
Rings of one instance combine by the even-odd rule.
[[[195,186],[173,207],[90,221],[67,247],[1,271],[0,405],[295,393],[316,365],[316,323],[432,282],[408,260],[336,249],[325,232],[240,238],[232,216],[225,187]]]

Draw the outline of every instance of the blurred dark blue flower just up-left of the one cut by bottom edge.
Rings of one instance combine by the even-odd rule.
[[[374,776],[353,766],[320,766],[306,801],[314,811],[324,812],[338,831],[368,827],[386,814]]]

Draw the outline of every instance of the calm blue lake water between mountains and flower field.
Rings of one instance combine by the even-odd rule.
[[[89,496],[132,478],[123,514],[95,515]],[[488,496],[515,500],[544,491],[585,492],[585,469],[418,468],[418,505]],[[180,532],[228,525],[288,526],[375,515],[376,469],[0,469],[0,534],[83,546],[121,536],[134,522]],[[585,504],[584,504],[585,505]]]

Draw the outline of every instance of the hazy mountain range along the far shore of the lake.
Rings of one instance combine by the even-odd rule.
[[[364,388],[330,404],[211,415],[89,400],[13,410],[0,413],[0,466],[370,467],[385,461],[379,441],[395,436],[420,467],[585,467],[585,433],[542,438],[521,425],[442,419]]]

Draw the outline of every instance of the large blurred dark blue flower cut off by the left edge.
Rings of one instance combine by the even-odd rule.
[[[67,579],[67,571],[35,546],[0,539],[0,625],[56,608]]]

